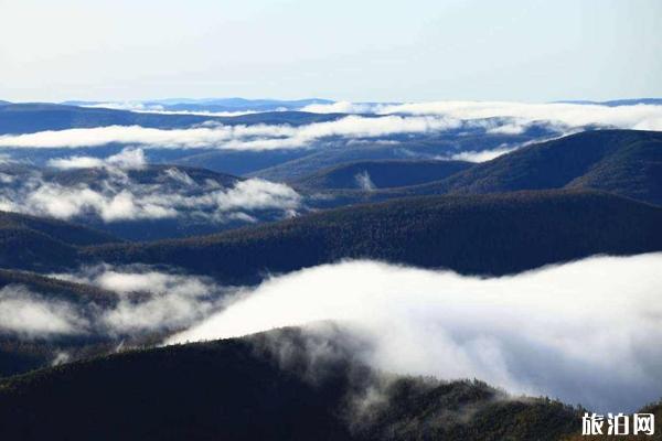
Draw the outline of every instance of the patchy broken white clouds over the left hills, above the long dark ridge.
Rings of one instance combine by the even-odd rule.
[[[60,170],[103,169],[94,179],[58,180],[33,170],[8,176],[0,187],[0,209],[72,219],[93,216],[105,223],[138,219],[189,218],[225,223],[255,222],[257,212],[276,211],[289,217],[301,208],[301,196],[286,184],[259,179],[239,180],[223,186],[213,179],[195,181],[175,166],[154,169],[148,180],[130,171],[147,168],[140,149],[127,149],[107,159],[71,157],[55,159]],[[62,176],[62,175],[60,175]]]

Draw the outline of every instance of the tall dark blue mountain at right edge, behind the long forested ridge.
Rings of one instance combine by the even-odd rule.
[[[595,130],[536,143],[413,194],[584,187],[662,204],[662,132]]]

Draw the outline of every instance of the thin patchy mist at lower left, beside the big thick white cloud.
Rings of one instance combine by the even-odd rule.
[[[94,297],[77,301],[22,284],[0,290],[0,334],[23,338],[119,337],[186,329],[218,311],[227,292],[212,279],[142,265],[97,265],[50,275],[115,294],[110,304]]]

